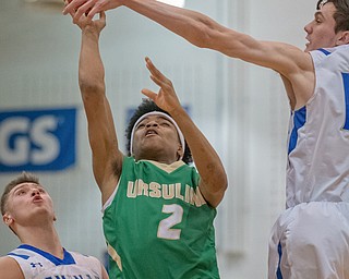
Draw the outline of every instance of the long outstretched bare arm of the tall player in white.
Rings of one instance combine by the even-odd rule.
[[[273,69],[297,90],[289,90],[292,108],[303,106],[312,94],[313,64],[301,49],[277,41],[257,40],[248,34],[225,27],[210,17],[188,9],[177,8],[155,0],[72,0],[65,12],[77,9],[75,17],[83,12],[91,17],[97,11],[112,5],[129,9],[153,20],[200,48],[217,50],[228,57]],[[80,7],[80,8],[79,8]]]

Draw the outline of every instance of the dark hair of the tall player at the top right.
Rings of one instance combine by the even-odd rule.
[[[335,33],[349,31],[349,0],[318,0],[316,10],[320,10],[326,3],[333,3],[336,8],[336,12],[334,13],[336,21]]]

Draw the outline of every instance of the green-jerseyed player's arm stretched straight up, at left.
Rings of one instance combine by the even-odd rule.
[[[101,12],[95,21],[83,15],[77,25],[82,29],[79,85],[87,117],[94,175],[105,202],[116,187],[123,156],[118,148],[112,113],[106,97],[105,70],[99,53],[99,36],[106,25],[106,15]]]

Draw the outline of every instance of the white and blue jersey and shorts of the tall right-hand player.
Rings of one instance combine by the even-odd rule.
[[[291,113],[287,210],[269,243],[269,279],[349,278],[349,46],[310,52],[315,90]]]

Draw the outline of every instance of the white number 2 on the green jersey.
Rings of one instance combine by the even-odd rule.
[[[171,215],[159,222],[157,236],[166,240],[179,240],[181,236],[181,230],[172,229],[172,227],[182,221],[183,208],[177,204],[164,205],[163,213]]]

